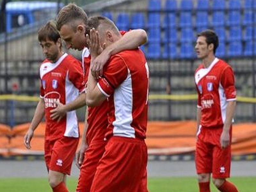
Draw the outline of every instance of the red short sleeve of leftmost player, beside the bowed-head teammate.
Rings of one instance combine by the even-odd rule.
[[[82,64],[78,60],[71,60],[68,69],[68,79],[79,90],[79,93],[85,91],[84,73]]]

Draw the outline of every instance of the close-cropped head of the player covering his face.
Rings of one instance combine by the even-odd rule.
[[[95,28],[100,36],[100,44],[103,49],[117,41],[121,34],[113,21],[107,17],[90,17],[86,24],[86,33],[90,35],[90,29]]]

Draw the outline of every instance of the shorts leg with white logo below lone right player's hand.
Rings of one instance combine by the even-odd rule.
[[[231,146],[227,148],[214,147],[212,162],[212,177],[215,179],[228,178],[230,176]]]

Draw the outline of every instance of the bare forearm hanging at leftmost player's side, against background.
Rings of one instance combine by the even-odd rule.
[[[32,131],[35,131],[36,127],[42,121],[43,118],[44,118],[44,100],[40,99],[36,106],[36,111],[33,116],[33,119],[29,125],[29,129],[31,129]]]

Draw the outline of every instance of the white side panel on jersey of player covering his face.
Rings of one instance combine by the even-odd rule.
[[[113,135],[135,138],[132,123],[132,76],[128,69],[128,76],[114,92],[115,117],[113,121]]]

